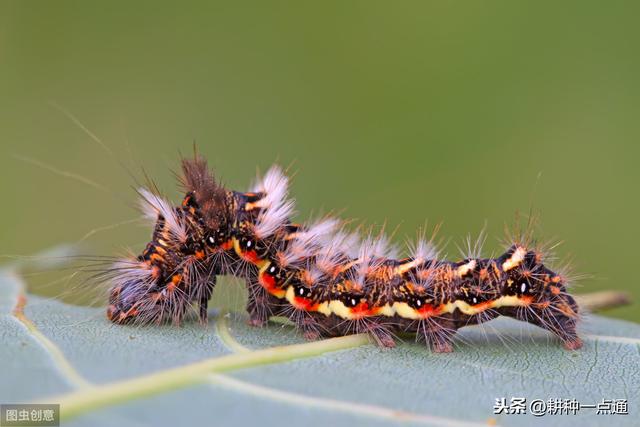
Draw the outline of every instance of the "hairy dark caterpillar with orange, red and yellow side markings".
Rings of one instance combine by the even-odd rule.
[[[527,239],[497,258],[461,261],[441,260],[419,240],[399,258],[386,237],[361,241],[336,219],[291,222],[288,179],[277,167],[237,192],[196,155],[182,161],[181,183],[178,207],[140,191],[155,228],[140,256],[105,272],[115,323],[179,323],[194,307],[205,322],[216,277],[227,274],[246,280],[251,324],[286,316],[308,339],[366,332],[392,347],[410,332],[449,352],[459,328],[504,315],[552,332],[567,349],[582,345],[565,278]]]

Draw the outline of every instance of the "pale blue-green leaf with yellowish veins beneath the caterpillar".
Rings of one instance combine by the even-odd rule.
[[[0,402],[61,403],[64,426],[633,425],[640,326],[590,317],[568,352],[509,319],[461,331],[456,352],[366,336],[304,342],[288,325],[242,315],[209,325],[116,326],[104,310],[26,297],[0,271]],[[496,398],[628,399],[631,415],[494,415]]]

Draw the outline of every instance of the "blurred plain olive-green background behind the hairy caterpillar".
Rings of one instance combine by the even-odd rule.
[[[533,206],[540,237],[593,276],[577,291],[627,290],[608,314],[639,321],[638,16],[634,1],[0,1],[1,252],[135,218],[120,163],[178,200],[170,169],[196,141],[233,188],[292,165],[301,219],[342,210],[398,243],[443,221],[452,257],[485,223],[498,251]],[[85,243],[113,255],[149,233]],[[35,289],[82,301],[70,282]]]

